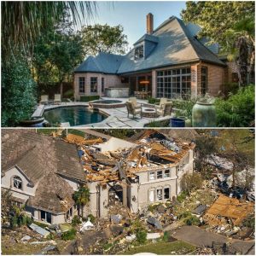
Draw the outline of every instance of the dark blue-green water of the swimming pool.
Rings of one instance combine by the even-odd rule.
[[[102,122],[106,118],[102,113],[86,107],[64,107],[44,111],[44,119],[49,121],[51,126],[66,122],[71,126],[89,125]]]

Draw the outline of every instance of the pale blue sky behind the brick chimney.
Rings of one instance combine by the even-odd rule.
[[[186,2],[181,1],[149,1],[149,2],[96,2],[97,15],[90,24],[108,24],[109,26],[122,25],[127,36],[129,47],[132,47],[139,38],[146,33],[146,15],[154,15],[154,28],[172,15],[180,17],[181,10]]]

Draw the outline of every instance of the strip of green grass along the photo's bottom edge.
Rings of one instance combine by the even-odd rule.
[[[168,254],[181,255],[181,254],[187,254],[193,251],[195,251],[195,247],[184,241],[172,241],[172,242],[160,241],[156,243],[147,244],[142,247],[134,247],[124,253],[119,253],[119,254],[132,255],[136,253],[155,253],[159,255],[168,255]]]

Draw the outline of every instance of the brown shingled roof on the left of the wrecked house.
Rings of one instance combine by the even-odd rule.
[[[67,212],[73,206],[73,188],[65,178],[85,182],[77,147],[35,130],[2,131],[2,176],[14,167],[30,186],[37,186],[26,206],[48,212]]]

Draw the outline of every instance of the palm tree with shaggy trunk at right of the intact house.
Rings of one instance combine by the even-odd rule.
[[[225,33],[224,50],[229,52],[228,59],[236,61],[239,85],[247,84],[248,72],[253,72],[255,59],[254,17],[246,17],[236,22],[232,29]]]

